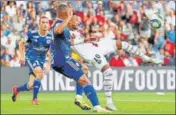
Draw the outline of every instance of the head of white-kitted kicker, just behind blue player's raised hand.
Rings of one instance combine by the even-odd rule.
[[[80,23],[79,17],[76,15],[73,15],[71,20],[68,23],[68,26],[71,30],[74,30],[74,29],[77,29],[79,23]]]

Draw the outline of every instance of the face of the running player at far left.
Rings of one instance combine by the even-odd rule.
[[[47,18],[42,18],[40,20],[40,29],[42,29],[43,31],[49,30],[49,20]]]

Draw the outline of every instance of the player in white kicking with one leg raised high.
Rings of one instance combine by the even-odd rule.
[[[74,51],[73,56],[76,57],[77,59],[79,59],[79,56],[81,56],[86,62],[92,64],[97,69],[101,70],[101,72],[104,75],[106,108],[109,110],[117,110],[112,100],[113,72],[105,56],[111,53],[116,53],[117,50],[123,49],[127,52],[140,56],[146,62],[152,62],[155,64],[160,64],[162,62],[161,60],[156,60],[146,56],[137,47],[132,46],[124,41],[121,42],[120,40],[104,38],[99,42],[93,42],[94,44],[97,44],[97,46],[95,46],[92,43],[84,43],[84,38],[80,35],[78,31],[76,31],[78,27],[77,21],[78,21],[77,17],[74,16],[72,18],[72,23],[70,26],[71,27],[70,30],[72,30],[71,34],[73,34],[75,37],[73,43],[74,45],[72,46],[72,50]],[[76,53],[79,56],[76,55]],[[88,70],[87,67],[85,67],[85,69]],[[83,89],[81,89],[79,84],[76,85],[76,89],[77,89],[76,90],[77,91],[76,100],[77,100],[77,98],[82,97],[81,95],[83,93]]]

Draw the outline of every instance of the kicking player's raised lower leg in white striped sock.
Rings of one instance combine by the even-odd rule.
[[[151,58],[151,57],[148,57],[147,55],[145,55],[138,47],[135,47],[125,41],[120,41],[120,40],[117,40],[117,47],[121,47],[123,50],[129,52],[129,53],[132,53],[134,55],[137,55],[139,57],[141,57],[144,61],[146,62],[151,62],[151,63],[154,63],[154,64],[163,64],[163,61],[162,60],[158,60],[158,59],[155,59],[155,58]]]

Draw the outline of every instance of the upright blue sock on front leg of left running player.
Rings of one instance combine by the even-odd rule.
[[[40,86],[41,86],[41,81],[35,80],[34,81],[34,88],[33,88],[33,99],[37,99],[37,95],[39,93]]]

